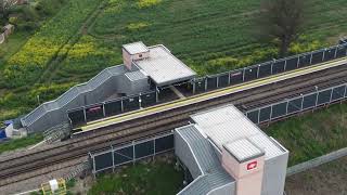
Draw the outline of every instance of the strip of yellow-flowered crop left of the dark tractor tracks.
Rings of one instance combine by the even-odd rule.
[[[20,87],[34,83],[99,3],[99,0],[67,1],[64,9],[9,58],[3,72],[5,84]]]

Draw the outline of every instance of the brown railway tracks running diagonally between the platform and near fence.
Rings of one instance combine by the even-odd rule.
[[[116,127],[106,127],[94,131],[92,134],[52,145],[47,150],[38,150],[26,155],[4,158],[0,160],[0,186],[35,177],[31,174],[24,176],[24,173],[35,172],[52,165],[86,156],[89,151],[101,150],[111,144],[121,144],[183,126],[188,123],[191,114],[208,107],[232,102],[237,107],[248,109],[301,93],[309,93],[316,90],[314,86],[327,88],[346,82],[346,78],[347,66],[343,65],[324,72],[217,98],[206,101],[204,104],[153,114],[142,117],[142,120],[120,122]]]

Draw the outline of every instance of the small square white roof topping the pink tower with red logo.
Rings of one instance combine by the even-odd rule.
[[[239,161],[264,155],[264,152],[247,139],[227,143],[224,144],[224,148],[237,158]]]

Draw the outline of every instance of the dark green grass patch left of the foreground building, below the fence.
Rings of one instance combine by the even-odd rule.
[[[182,181],[183,173],[175,170],[172,164],[137,164],[119,173],[99,177],[88,194],[174,195],[182,187]]]

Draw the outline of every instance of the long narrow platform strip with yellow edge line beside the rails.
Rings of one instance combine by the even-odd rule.
[[[102,120],[92,121],[92,122],[88,123],[87,126],[81,127],[81,130],[82,130],[82,132],[86,132],[86,131],[90,131],[93,129],[99,129],[99,128],[107,127],[111,125],[115,125],[115,123],[123,121],[123,120],[133,119],[133,118],[137,118],[138,116],[145,116],[147,114],[157,113],[159,110],[164,112],[164,110],[167,110],[170,108],[175,108],[177,105],[183,106],[183,105],[188,105],[188,104],[192,104],[192,103],[197,103],[197,102],[202,102],[202,101],[205,101],[205,100],[208,100],[211,98],[218,98],[218,96],[227,95],[230,93],[235,93],[239,91],[253,89],[253,88],[257,88],[260,86],[266,86],[266,84],[270,84],[273,82],[295,78],[298,76],[308,75],[311,73],[316,73],[316,72],[327,69],[327,68],[344,65],[347,63],[346,60],[347,60],[347,57],[343,57],[343,58],[338,58],[338,60],[334,60],[334,61],[329,61],[329,62],[320,63],[320,64],[317,64],[313,66],[307,66],[307,67],[303,67],[299,69],[294,69],[291,72],[285,72],[282,74],[272,75],[272,76],[269,76],[266,78],[260,78],[260,79],[252,80],[248,82],[243,82],[240,84],[230,86],[227,88],[221,88],[218,90],[209,91],[206,93],[201,93],[197,95],[190,96],[188,99],[176,100],[172,102],[158,104],[158,105],[151,106],[147,108],[125,113],[123,115],[117,115],[117,116],[104,118]]]

